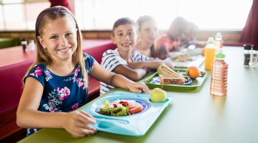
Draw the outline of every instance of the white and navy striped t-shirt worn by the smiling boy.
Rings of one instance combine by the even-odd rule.
[[[150,59],[149,57],[146,57],[145,55],[142,55],[141,53],[135,50],[132,51],[131,58],[133,62],[147,61],[148,59]],[[103,53],[101,65],[108,71],[114,72],[114,69],[117,66],[127,65],[127,62],[122,57],[120,57],[118,48],[116,48],[115,50],[107,50]],[[113,86],[100,82],[100,95],[104,94],[105,92],[108,92],[109,90],[112,90],[113,88]]]

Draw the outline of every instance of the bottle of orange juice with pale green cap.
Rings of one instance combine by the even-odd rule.
[[[216,46],[214,45],[213,37],[209,37],[207,45],[204,47],[204,56],[205,56],[205,69],[211,69],[211,63],[215,59]]]

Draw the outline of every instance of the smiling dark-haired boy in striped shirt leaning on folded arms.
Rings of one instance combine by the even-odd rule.
[[[126,78],[140,80],[150,69],[157,69],[161,60],[153,60],[133,50],[139,40],[136,23],[126,17],[118,19],[113,26],[111,39],[117,45],[115,50],[103,53],[101,65],[108,71],[121,74]],[[171,62],[164,61],[173,68]],[[100,95],[113,89],[113,86],[100,82]]]

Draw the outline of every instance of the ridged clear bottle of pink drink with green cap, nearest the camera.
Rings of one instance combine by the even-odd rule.
[[[224,96],[228,91],[228,63],[224,60],[222,49],[218,49],[215,56],[211,68],[210,94]]]

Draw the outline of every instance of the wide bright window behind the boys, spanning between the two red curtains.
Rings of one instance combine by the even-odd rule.
[[[200,29],[242,29],[253,0],[75,0],[81,29],[112,29],[121,17],[153,16],[159,29],[168,29],[177,16]]]

